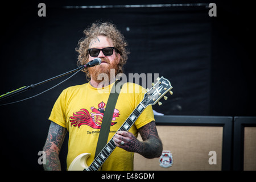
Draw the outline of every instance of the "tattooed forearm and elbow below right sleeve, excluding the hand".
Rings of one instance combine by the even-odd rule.
[[[143,139],[141,146],[139,146],[138,153],[145,158],[159,158],[163,151],[163,144],[158,137],[155,122],[152,121],[139,129],[139,133]],[[139,145],[139,144],[138,144]]]

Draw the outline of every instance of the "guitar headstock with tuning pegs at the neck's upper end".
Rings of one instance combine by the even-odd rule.
[[[147,89],[147,93],[144,94],[142,101],[144,106],[155,105],[162,97],[167,100],[167,97],[164,96],[164,94],[172,89],[170,81],[164,77],[157,78],[156,80],[157,82],[152,84],[152,88],[150,90]],[[170,93],[172,94],[172,91],[170,91]],[[161,104],[162,103],[159,102],[159,105]]]

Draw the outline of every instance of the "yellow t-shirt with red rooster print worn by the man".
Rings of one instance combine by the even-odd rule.
[[[97,90],[90,84],[71,86],[60,94],[53,106],[49,120],[69,131],[67,169],[73,159],[82,153],[90,153],[88,166],[93,162],[101,121],[108,102],[110,90],[114,84]],[[146,90],[133,83],[123,84],[115,105],[108,141],[114,136],[123,122],[143,100]],[[154,121],[152,106],[147,106],[130,128],[138,136],[140,127]],[[127,152],[116,147],[102,165],[102,170],[133,170],[134,152]]]

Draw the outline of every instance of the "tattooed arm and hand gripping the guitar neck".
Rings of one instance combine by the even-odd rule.
[[[137,152],[144,158],[158,158],[162,154],[163,144],[158,137],[155,122],[152,121],[139,129],[139,133],[143,139],[140,142],[132,133],[127,131],[118,131],[115,134],[115,145],[129,152]],[[125,142],[121,145],[121,142]]]

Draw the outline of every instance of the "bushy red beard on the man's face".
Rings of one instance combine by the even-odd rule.
[[[115,69],[115,75],[117,75],[117,69],[118,69],[118,57],[115,58],[115,60],[110,63],[110,61],[107,58],[101,58],[101,64],[96,65],[95,67],[88,68],[89,75],[92,78],[92,80],[96,81],[98,84],[102,81],[104,81],[104,78],[102,80],[98,80],[98,76],[101,73],[105,73],[108,75],[108,81],[110,82],[110,69]]]

